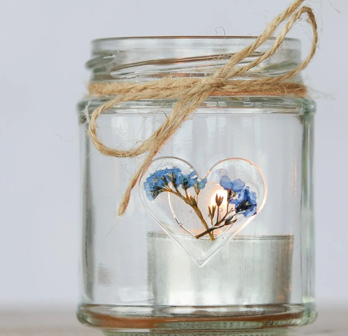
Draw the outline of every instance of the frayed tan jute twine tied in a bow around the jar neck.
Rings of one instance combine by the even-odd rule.
[[[123,195],[118,215],[122,216],[128,206],[130,193],[139,178],[147,170],[153,157],[160,151],[161,147],[177,131],[182,123],[211,95],[236,96],[236,95],[284,95],[293,94],[305,96],[306,87],[291,83],[288,79],[304,69],[314,56],[318,41],[317,24],[313,10],[310,7],[302,6],[304,0],[296,0],[280,13],[264,32],[255,39],[248,47],[233,54],[228,63],[216,70],[215,73],[204,78],[164,78],[149,81],[144,84],[138,83],[92,83],[89,86],[89,93],[92,96],[117,96],[96,108],[89,122],[89,136],[95,148],[104,155],[117,158],[134,158],[148,152],[147,157],[130,179],[129,185]],[[293,27],[301,16],[307,15],[308,22],[313,28],[313,41],[311,50],[306,59],[294,70],[282,76],[261,77],[251,80],[231,80],[236,76],[245,74],[248,70],[259,65],[262,61],[274,54],[284,41],[286,34]],[[278,26],[285,23],[284,28],[274,40],[272,47],[264,54],[254,59],[245,66],[237,66],[240,61],[250,57],[264,42],[271,37]],[[285,81],[287,80],[287,81]],[[284,82],[285,81],[285,82]],[[140,99],[178,99],[171,114],[169,114],[158,129],[144,142],[135,148],[120,150],[110,148],[103,144],[97,136],[97,118],[106,110],[115,105]]]

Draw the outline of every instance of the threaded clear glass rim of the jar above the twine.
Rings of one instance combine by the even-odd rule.
[[[86,67],[92,70],[91,81],[123,79],[148,80],[168,74],[178,77],[204,77],[228,62],[229,58],[248,47],[255,36],[139,36],[111,37],[92,41],[92,59]],[[266,53],[275,37],[264,42],[248,62]],[[277,52],[252,70],[251,77],[281,75],[301,62],[301,42],[286,38]]]

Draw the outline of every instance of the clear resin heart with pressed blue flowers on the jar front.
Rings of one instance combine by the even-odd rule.
[[[186,161],[153,160],[139,182],[145,209],[199,266],[259,213],[267,186],[251,161],[217,162],[200,178]]]

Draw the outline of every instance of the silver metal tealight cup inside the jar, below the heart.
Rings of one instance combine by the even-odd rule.
[[[292,246],[292,235],[238,235],[199,267],[165,233],[150,232],[151,299],[162,306],[289,303]]]

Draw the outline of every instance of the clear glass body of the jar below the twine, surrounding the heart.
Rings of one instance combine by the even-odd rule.
[[[262,212],[202,268],[146,213],[137,188],[125,216],[116,216],[122,193],[143,157],[102,156],[86,137],[87,119],[81,116],[82,322],[112,329],[105,331],[111,335],[213,333],[314,320],[313,103],[303,101],[299,108],[291,99],[288,106],[277,106],[277,99],[253,99],[258,99],[257,107],[248,99],[207,102],[160,152],[190,162],[201,176],[220,160],[243,157],[255,162],[266,177],[269,193]],[[104,143],[136,145],[170,112],[163,104],[135,105],[98,119]],[[283,267],[274,266],[276,262]],[[240,269],[240,264],[250,267]],[[259,267],[252,268],[256,264]],[[253,273],[254,283],[245,285]],[[267,283],[269,291],[262,291]]]

